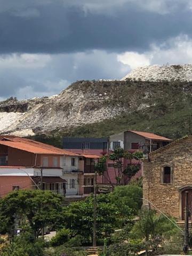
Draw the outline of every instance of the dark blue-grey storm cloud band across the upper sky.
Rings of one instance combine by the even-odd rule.
[[[108,15],[85,12],[65,1],[26,2],[13,8],[9,5],[0,13],[0,53],[142,51],[150,43],[161,43],[180,33],[191,36],[191,10],[184,5],[161,14],[125,3],[114,15]]]

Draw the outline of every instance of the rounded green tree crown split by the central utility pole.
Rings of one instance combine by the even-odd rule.
[[[73,202],[66,207],[65,227],[69,228],[72,235],[82,235],[87,242],[93,233],[93,197],[85,201]],[[97,196],[97,237],[107,237],[113,233],[117,225],[117,208],[111,204],[108,195]]]

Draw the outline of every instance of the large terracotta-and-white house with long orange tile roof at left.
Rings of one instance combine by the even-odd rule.
[[[84,158],[45,143],[1,135],[0,196],[14,189],[42,188],[66,197],[82,197],[79,180],[83,180],[84,169],[79,170],[79,157]]]

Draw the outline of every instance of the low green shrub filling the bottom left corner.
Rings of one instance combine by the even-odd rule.
[[[30,231],[21,232],[3,247],[1,256],[44,256],[44,246],[43,240],[34,239]]]

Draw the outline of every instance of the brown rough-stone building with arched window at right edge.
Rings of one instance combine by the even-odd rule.
[[[153,151],[143,163],[143,198],[159,210],[183,220],[185,191],[192,213],[192,136]]]

